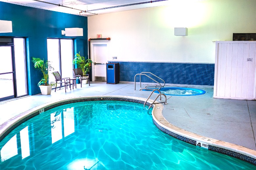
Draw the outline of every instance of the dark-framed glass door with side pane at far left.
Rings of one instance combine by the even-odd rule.
[[[24,38],[0,38],[0,101],[28,94]]]

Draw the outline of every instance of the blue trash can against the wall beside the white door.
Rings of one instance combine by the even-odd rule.
[[[107,84],[119,83],[119,63],[107,63]]]

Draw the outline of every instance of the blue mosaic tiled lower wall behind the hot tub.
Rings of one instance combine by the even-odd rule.
[[[151,72],[168,84],[214,85],[215,64],[128,61],[110,61],[110,63],[119,63],[120,81],[134,82],[136,74]],[[136,81],[139,81],[139,76],[136,77]],[[155,83],[146,76],[141,76],[141,82]]]

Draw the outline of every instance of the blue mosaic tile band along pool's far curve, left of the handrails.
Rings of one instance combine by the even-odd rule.
[[[102,99],[101,99],[102,98]],[[73,99],[73,100],[69,100],[69,101],[64,101],[64,102],[60,102],[60,103],[56,103],[53,104],[51,106],[48,106],[46,108],[44,108],[44,111],[53,109],[55,107],[61,106],[61,105],[65,105],[65,104],[70,104],[70,103],[76,103],[76,102],[85,102],[85,101],[100,101],[100,100],[118,100],[118,101],[127,101],[127,102],[135,102],[135,103],[140,103],[140,104],[144,104],[144,101],[141,100],[136,100],[136,99],[128,99],[128,98],[115,98],[115,97],[99,97],[99,98],[83,98],[83,99]],[[145,105],[150,106],[150,103],[146,103]],[[151,108],[153,108],[154,106],[152,105]],[[20,126],[22,123],[26,122],[27,120],[31,119],[32,117],[36,116],[39,114],[39,111],[36,111],[34,113],[32,113],[31,115],[23,118],[22,120],[20,120],[19,122],[15,123],[13,126],[11,126],[2,136],[0,136],[0,142],[16,127]]]

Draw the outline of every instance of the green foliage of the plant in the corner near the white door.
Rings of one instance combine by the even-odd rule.
[[[85,57],[80,56],[80,52],[75,55],[73,64],[77,64],[78,68],[81,68],[83,74],[86,74],[92,68],[93,61],[91,59],[85,59]]]

